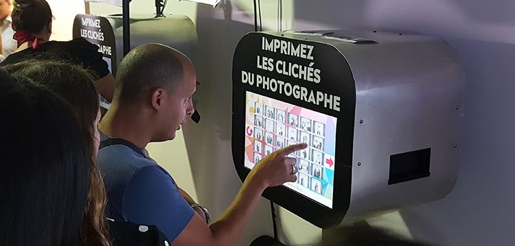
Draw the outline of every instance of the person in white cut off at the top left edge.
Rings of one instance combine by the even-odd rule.
[[[11,23],[11,1],[0,0],[0,32],[1,32],[1,47],[0,55],[9,56],[16,51],[16,40],[12,39],[14,31],[12,30]]]

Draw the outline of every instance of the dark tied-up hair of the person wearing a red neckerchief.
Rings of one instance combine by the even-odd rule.
[[[11,14],[12,29],[40,33],[52,23],[52,9],[45,0],[15,0]]]

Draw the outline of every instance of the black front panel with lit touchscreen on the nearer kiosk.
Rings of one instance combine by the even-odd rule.
[[[240,40],[233,58],[233,160],[242,180],[259,160],[305,142],[294,153],[297,182],[263,196],[319,227],[349,207],[356,89],[332,45],[262,32]]]

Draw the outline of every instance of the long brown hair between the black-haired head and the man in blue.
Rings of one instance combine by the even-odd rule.
[[[96,167],[96,150],[93,137],[98,116],[99,96],[93,86],[93,76],[80,66],[58,61],[27,60],[5,66],[5,70],[32,79],[63,97],[76,113],[79,123],[88,130],[91,143],[90,189],[85,210],[81,238],[84,245],[108,245],[104,219],[106,192],[104,182]]]

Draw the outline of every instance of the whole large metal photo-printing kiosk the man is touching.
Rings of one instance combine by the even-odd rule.
[[[251,32],[233,58],[233,160],[242,180],[272,151],[297,182],[263,196],[329,227],[445,197],[457,178],[464,77],[439,38]]]

